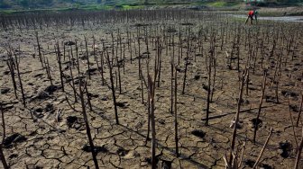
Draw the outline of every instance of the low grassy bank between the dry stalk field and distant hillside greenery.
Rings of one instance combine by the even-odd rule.
[[[283,16],[283,15],[303,15],[303,6],[301,4],[292,4],[294,8],[289,8],[284,4],[282,6],[274,7],[260,7],[261,16]],[[248,10],[252,9],[253,6],[247,6],[243,2],[184,2],[184,1],[160,1],[153,0],[149,1],[148,4],[144,4],[143,0],[133,0],[133,1],[121,1],[117,0],[111,3],[103,4],[70,4],[65,7],[49,7],[49,8],[33,8],[33,9],[23,9],[23,8],[8,8],[0,9],[0,13],[12,14],[12,13],[43,13],[43,12],[66,12],[66,11],[100,11],[100,10],[133,10],[133,9],[144,9],[144,8],[184,8],[188,7],[190,9],[212,9],[219,11],[228,11],[230,13],[246,13]]]

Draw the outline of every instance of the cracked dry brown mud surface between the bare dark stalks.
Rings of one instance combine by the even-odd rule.
[[[182,25],[182,29],[185,26],[187,25]],[[106,25],[90,25],[89,28],[73,27],[68,29],[63,27],[57,31],[57,29],[50,27],[39,31],[41,50],[45,57],[50,60],[50,73],[53,77],[54,86],[58,88],[50,86],[45,70],[41,69],[37,51],[33,49],[33,46],[36,46],[34,31],[1,31],[1,37],[8,37],[6,40],[1,39],[1,42],[8,42],[13,48],[17,48],[20,44],[22,51],[20,68],[27,98],[27,108],[23,108],[21,100],[14,98],[14,88],[10,75],[7,74],[8,67],[5,63],[6,52],[4,48],[0,48],[1,102],[8,103],[5,105],[6,138],[13,136],[13,138],[7,140],[4,151],[5,157],[12,168],[87,168],[87,166],[94,168],[82,114],[80,111],[72,111],[65,101],[66,96],[73,99],[72,89],[66,83],[66,92],[61,92],[59,66],[53,52],[53,46],[57,40],[77,40],[80,45],[79,57],[84,56],[84,36],[87,37],[89,47],[92,46],[93,35],[96,38],[97,46],[101,47],[101,40],[105,40],[108,45],[111,44],[111,35],[108,32],[112,28]],[[123,25],[116,24],[115,33],[117,28],[121,29]],[[197,25],[196,27],[194,25],[193,29],[197,29]],[[130,27],[130,30],[136,32],[136,28]],[[121,32],[125,40],[124,30]],[[302,35],[302,30],[299,33]],[[298,43],[302,44],[302,39],[302,36],[298,36]],[[207,49],[209,42],[204,41],[203,44]],[[155,96],[156,154],[160,161],[159,166],[165,165],[171,168],[225,167],[223,156],[229,152],[232,137],[232,129],[229,126],[231,120],[234,120],[238,97],[237,71],[229,70],[224,65],[225,50],[230,52],[231,45],[231,43],[225,43],[224,50],[217,49],[216,51],[218,64],[216,84],[221,85],[223,83],[223,88],[216,87],[214,102],[211,103],[210,116],[223,116],[209,120],[209,126],[205,126],[205,120],[202,120],[206,117],[207,105],[207,91],[204,89],[204,84],[207,84],[205,63],[207,55],[204,55],[204,57],[197,56],[196,62],[193,57],[190,59],[186,92],[183,95],[181,94],[181,86],[184,73],[178,72],[179,157],[175,156],[174,117],[170,114],[170,56],[172,55],[172,49],[168,52],[168,56],[163,50],[161,84],[156,89]],[[143,41],[141,48],[142,53],[146,51]],[[152,43],[150,48],[153,60],[156,51]],[[270,48],[270,46],[265,48]],[[67,50],[69,49],[68,46]],[[184,47],[185,49],[186,47]],[[100,48],[96,49],[97,55],[99,55],[100,50]],[[89,52],[91,51],[92,49],[89,48]],[[119,52],[118,49],[118,54],[120,54]],[[267,52],[269,51],[267,50]],[[178,53],[178,48],[175,49],[175,53]],[[243,56],[241,63],[244,63],[247,51],[243,46],[241,46],[241,53]],[[32,58],[33,54],[36,55],[36,58]],[[261,67],[258,66],[256,74],[251,75],[252,82],[249,84],[249,95],[244,94],[243,97],[247,102],[244,102],[241,108],[246,111],[240,114],[241,122],[238,124],[236,141],[236,147],[240,148],[246,136],[249,139],[243,157],[245,168],[253,166],[270,128],[273,128],[274,132],[262,156],[261,166],[264,168],[289,168],[294,164],[295,151],[293,147],[295,140],[289,126],[288,101],[282,91],[291,90],[299,94],[298,86],[301,86],[301,81],[287,76],[288,74],[300,76],[302,72],[302,67],[296,66],[297,63],[302,63],[302,46],[298,48],[297,55],[297,58],[289,61],[288,67],[297,67],[298,71],[282,72],[279,93],[280,103],[265,102],[265,100],[263,102],[262,124],[259,124],[260,129],[256,144],[251,142],[253,137],[252,120],[256,117],[260,101]],[[67,59],[63,62],[68,61]],[[89,59],[90,67],[96,68],[94,57],[89,56]],[[121,72],[122,93],[119,94],[116,90],[121,125],[115,124],[112,93],[106,85],[101,85],[101,76],[96,71],[92,74],[91,80],[88,80],[88,92],[94,97],[91,100],[93,111],[89,111],[87,107],[87,114],[96,146],[97,160],[102,168],[150,168],[151,141],[148,141],[145,145],[147,108],[141,102],[141,81],[138,79],[137,72],[138,59],[133,59],[131,64],[128,49],[125,49],[125,59],[125,72],[124,74],[123,71]],[[146,58],[142,58],[142,63],[145,63],[144,60]],[[181,70],[184,70],[183,62],[184,60],[181,59]],[[63,67],[67,66],[68,64],[63,64]],[[80,67],[81,71],[85,72],[87,61],[80,61]],[[143,72],[146,73],[145,64],[142,67]],[[77,70],[73,69],[73,71],[77,75]],[[69,75],[69,70],[65,70],[64,74]],[[106,82],[109,83],[107,67],[105,67],[105,76]],[[222,78],[223,81],[221,82]],[[288,86],[291,83],[296,85]],[[268,84],[268,86],[270,85]],[[267,87],[266,94],[273,96],[274,92]],[[20,94],[19,97],[21,98]],[[146,101],[145,87],[144,98]],[[298,95],[290,94],[289,99],[291,104],[299,106]],[[78,103],[74,105],[77,110],[80,110]],[[61,110],[60,118],[56,114],[58,110]],[[293,110],[296,110],[296,108],[293,108]],[[293,117],[298,117],[298,112],[292,111],[291,113]],[[299,128],[296,128],[296,131],[300,133]]]

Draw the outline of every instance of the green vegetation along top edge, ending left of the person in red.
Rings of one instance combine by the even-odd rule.
[[[36,8],[58,8],[58,7],[76,7],[106,9],[106,8],[122,8],[122,9],[137,9],[144,5],[171,5],[171,4],[209,4],[214,7],[223,7],[234,4],[225,1],[211,0],[0,0],[1,9],[36,9]],[[94,6],[94,7],[93,7]]]

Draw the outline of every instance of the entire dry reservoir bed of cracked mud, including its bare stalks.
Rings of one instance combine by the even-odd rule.
[[[302,139],[302,23],[243,25],[228,15],[187,10],[2,17],[3,151],[12,168],[95,168],[86,121],[100,168],[150,168],[149,107],[159,168],[225,168],[234,126],[241,168],[253,167],[271,129],[257,168],[295,166]],[[154,110],[148,73],[150,84],[155,80]]]

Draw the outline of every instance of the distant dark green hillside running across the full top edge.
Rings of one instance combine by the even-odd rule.
[[[265,1],[266,2],[266,1]],[[258,6],[296,5],[303,0],[276,0],[270,3],[257,3]],[[144,5],[203,5],[211,7],[236,7],[245,4],[243,0],[0,0],[0,10],[32,10],[53,8],[81,8],[81,9],[135,9]],[[253,4],[254,5],[254,4]]]

